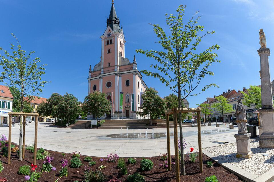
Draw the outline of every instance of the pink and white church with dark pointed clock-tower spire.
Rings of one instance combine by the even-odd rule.
[[[101,60],[93,70],[89,66],[88,77],[88,92],[104,92],[112,104],[110,113],[100,119],[140,119],[137,111],[141,111],[141,97],[147,85],[137,70],[135,56],[133,61],[125,58],[125,36],[113,1],[107,29],[100,38]],[[88,116],[88,119],[92,118],[92,115]]]

